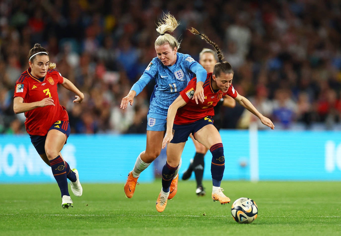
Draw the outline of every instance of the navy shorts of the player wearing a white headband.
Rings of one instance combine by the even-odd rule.
[[[50,130],[59,130],[60,132],[62,132],[63,134],[65,134],[66,136],[66,140],[68,140],[68,137],[70,136],[70,122],[69,121],[64,121],[64,120],[58,120],[56,123],[54,123],[50,129]],[[45,141],[46,141],[46,135],[42,136],[42,135],[30,135],[31,138],[31,142],[35,148],[35,150],[37,150],[38,154],[44,154],[45,153]],[[66,144],[66,141],[65,141]]]

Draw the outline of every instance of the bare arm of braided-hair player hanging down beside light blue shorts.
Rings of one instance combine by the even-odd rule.
[[[172,104],[168,107],[168,113],[167,113],[167,130],[165,137],[162,141],[162,149],[166,147],[166,144],[169,144],[170,141],[173,139],[173,124],[174,124],[174,118],[176,115],[176,112],[178,109],[182,106],[186,105],[185,100],[179,95]]]

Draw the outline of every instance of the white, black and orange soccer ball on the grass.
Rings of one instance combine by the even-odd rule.
[[[231,207],[233,219],[238,223],[251,223],[257,218],[258,207],[250,198],[238,198]]]

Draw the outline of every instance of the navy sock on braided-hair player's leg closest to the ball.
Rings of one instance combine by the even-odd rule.
[[[212,153],[211,174],[213,186],[220,187],[225,169],[224,147],[222,143],[214,144],[210,148]]]

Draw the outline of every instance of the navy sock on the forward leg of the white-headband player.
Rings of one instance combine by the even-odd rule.
[[[60,188],[60,192],[63,195],[70,196],[68,189],[68,179],[66,178],[66,169],[64,161],[60,156],[49,161],[52,169],[53,176],[55,177],[57,184]]]

